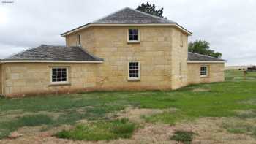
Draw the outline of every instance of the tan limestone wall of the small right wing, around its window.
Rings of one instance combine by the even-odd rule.
[[[208,65],[208,77],[200,77],[201,65]],[[225,80],[224,75],[225,63],[206,63],[206,64],[188,64],[188,83],[211,83],[222,82]]]

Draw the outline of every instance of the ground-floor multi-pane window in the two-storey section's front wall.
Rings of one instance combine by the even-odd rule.
[[[129,62],[128,79],[129,80],[140,80],[140,63],[138,61]]]

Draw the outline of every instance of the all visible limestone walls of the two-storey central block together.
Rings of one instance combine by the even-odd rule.
[[[129,28],[140,29],[140,43],[127,43]],[[187,85],[188,36],[172,26],[94,26],[67,36],[68,46],[76,45],[77,34],[83,48],[105,59],[99,67],[101,88],[176,89]],[[129,61],[140,61],[140,81],[127,80]]]

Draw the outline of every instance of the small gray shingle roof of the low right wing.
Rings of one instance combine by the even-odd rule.
[[[206,56],[198,53],[189,52],[187,61],[223,61],[225,62],[226,60],[220,59],[220,58],[214,58],[212,56]]]

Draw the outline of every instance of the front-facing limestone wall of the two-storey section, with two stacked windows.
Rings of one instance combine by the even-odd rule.
[[[94,27],[102,89],[171,89],[171,28],[141,26],[140,43],[127,43],[127,26]],[[129,81],[129,61],[140,61],[140,80]]]

